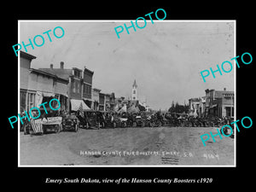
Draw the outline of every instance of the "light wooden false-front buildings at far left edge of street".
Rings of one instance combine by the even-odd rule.
[[[20,113],[52,98],[57,98],[61,102],[61,110],[66,110],[68,80],[32,68],[32,59],[36,57],[20,51]]]

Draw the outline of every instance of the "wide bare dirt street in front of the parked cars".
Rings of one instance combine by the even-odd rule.
[[[83,130],[43,136],[20,132],[20,166],[234,166],[234,139],[201,135],[217,128]]]

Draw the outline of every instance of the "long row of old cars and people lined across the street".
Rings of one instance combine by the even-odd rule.
[[[24,134],[35,132],[37,126],[41,133],[47,131],[78,131],[83,129],[102,129],[117,127],[220,127],[227,125],[231,119],[218,117],[194,117],[186,113],[160,113],[160,112],[141,112],[141,113],[114,113],[101,111],[77,111],[71,114],[63,112],[41,112],[42,119],[39,122],[30,121],[21,125]],[[39,129],[39,130],[40,130]]]

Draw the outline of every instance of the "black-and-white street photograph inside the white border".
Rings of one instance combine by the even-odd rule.
[[[212,67],[234,57],[234,23],[159,21],[120,39],[119,25],[20,22],[21,39],[65,35],[19,51],[19,165],[234,166],[236,134],[221,130],[234,73]],[[218,78],[205,83],[210,67]]]

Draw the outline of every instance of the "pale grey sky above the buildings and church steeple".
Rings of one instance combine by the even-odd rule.
[[[156,110],[170,108],[172,101],[188,103],[189,98],[205,96],[207,89],[235,89],[236,64],[230,61],[236,56],[234,21],[154,20],[152,24],[147,20],[143,29],[135,32],[130,28],[130,34],[124,30],[118,38],[114,27],[124,27],[124,23],[131,26],[131,20],[21,20],[18,43],[28,44],[29,38],[42,35],[43,46],[26,48],[37,56],[32,68],[51,63],[58,68],[61,61],[64,68],[86,67],[94,71],[93,88],[103,93],[131,97],[136,79],[139,97],[146,97],[149,107]],[[62,38],[53,35],[56,26],[64,29]],[[43,34],[48,30],[52,42]],[[211,74],[203,82],[201,71],[216,70],[224,61],[233,63],[233,70],[222,76],[215,73],[216,79]],[[230,67],[224,68],[228,71]]]

